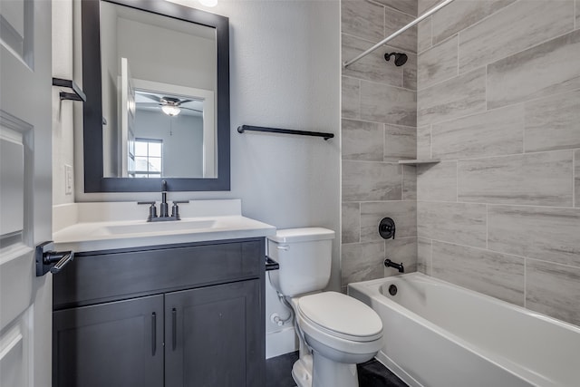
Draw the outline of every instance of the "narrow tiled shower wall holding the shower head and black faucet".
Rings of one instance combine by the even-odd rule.
[[[342,59],[380,42],[417,15],[415,0],[341,2]],[[384,53],[407,53],[402,67]],[[348,68],[342,91],[342,285],[396,272],[385,256],[417,266],[417,202],[414,167],[398,160],[416,157],[417,31],[410,30]],[[379,237],[379,220],[396,222],[396,239]]]

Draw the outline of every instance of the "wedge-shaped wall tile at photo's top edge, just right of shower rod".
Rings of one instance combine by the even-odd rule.
[[[432,16],[433,43],[459,33],[514,1],[516,0],[455,0]]]

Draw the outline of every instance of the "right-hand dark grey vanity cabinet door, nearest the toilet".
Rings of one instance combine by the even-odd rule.
[[[264,385],[259,280],[165,295],[165,385]]]

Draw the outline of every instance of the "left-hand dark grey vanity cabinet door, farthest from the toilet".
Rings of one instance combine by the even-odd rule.
[[[53,386],[163,385],[163,295],[53,313]]]

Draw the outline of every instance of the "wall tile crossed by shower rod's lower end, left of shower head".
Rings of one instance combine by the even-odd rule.
[[[343,62],[353,59],[359,53],[372,47],[372,43],[354,36],[342,35]],[[384,53],[394,50],[390,46],[369,53],[359,61],[343,67],[343,75],[372,82],[381,82],[392,86],[402,86],[403,67],[392,66],[384,60]]]

